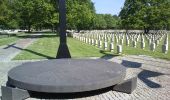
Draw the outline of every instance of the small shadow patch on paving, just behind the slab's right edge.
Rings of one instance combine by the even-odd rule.
[[[142,66],[141,63],[138,62],[132,62],[132,61],[127,61],[127,60],[122,60],[121,63],[123,66],[125,67],[129,67],[129,68],[139,68]]]

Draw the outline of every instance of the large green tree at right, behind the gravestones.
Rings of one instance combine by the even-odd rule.
[[[126,0],[119,16],[124,29],[167,29],[169,0]]]

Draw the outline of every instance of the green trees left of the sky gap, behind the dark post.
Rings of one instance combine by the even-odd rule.
[[[67,28],[113,29],[117,16],[96,14],[91,0],[66,0]],[[0,28],[57,30],[59,27],[58,2],[56,0],[1,0]]]

